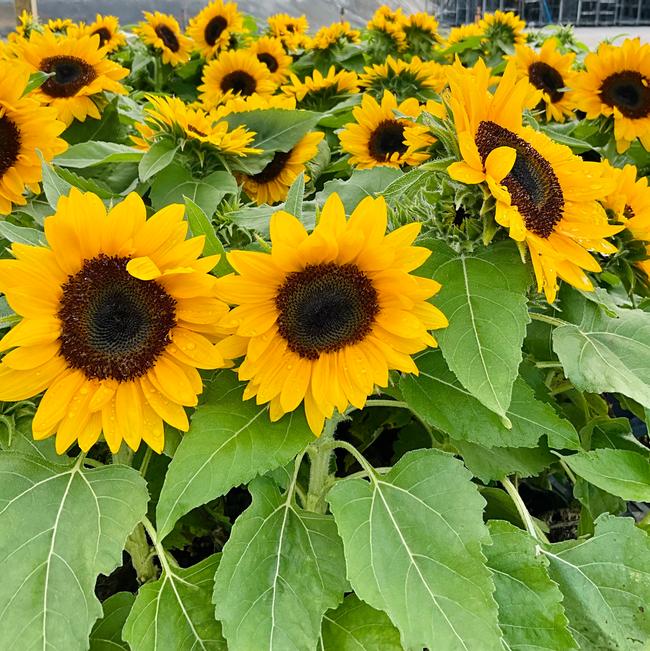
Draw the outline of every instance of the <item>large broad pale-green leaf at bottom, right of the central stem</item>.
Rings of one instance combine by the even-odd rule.
[[[501,648],[485,501],[460,461],[408,452],[371,481],[338,481],[328,499],[354,591],[388,614],[404,647]]]

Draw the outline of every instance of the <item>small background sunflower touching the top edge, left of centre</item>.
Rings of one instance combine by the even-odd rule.
[[[234,2],[213,0],[190,20],[187,35],[194,39],[196,49],[211,59],[230,45],[230,36],[244,29],[244,19]]]

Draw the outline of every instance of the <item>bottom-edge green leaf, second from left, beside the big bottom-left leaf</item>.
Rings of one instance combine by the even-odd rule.
[[[131,651],[226,651],[211,602],[219,557],[163,569],[158,581],[140,588],[123,632]]]

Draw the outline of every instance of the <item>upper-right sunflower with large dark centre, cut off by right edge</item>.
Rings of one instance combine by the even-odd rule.
[[[590,119],[613,116],[619,153],[637,138],[650,151],[650,44],[638,38],[620,47],[602,43],[584,63],[574,82],[576,106]]]

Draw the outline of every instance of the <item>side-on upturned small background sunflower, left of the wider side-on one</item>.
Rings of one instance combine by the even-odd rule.
[[[358,77],[356,72],[336,72],[336,68],[331,66],[325,76],[314,70],[311,77],[302,81],[292,74],[291,83],[282,86],[282,92],[294,97],[298,108],[327,111],[359,92]]]

